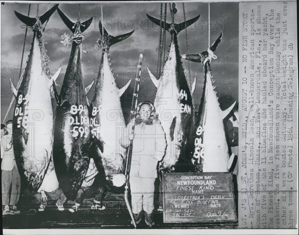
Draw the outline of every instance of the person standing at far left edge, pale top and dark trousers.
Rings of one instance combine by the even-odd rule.
[[[16,166],[13,152],[13,120],[6,122],[7,134],[1,138],[1,144],[4,148],[3,159],[1,163],[1,186],[2,186],[2,215],[18,214],[20,211],[16,207],[19,201],[21,191],[21,178]],[[1,154],[2,158],[2,154]],[[9,191],[11,187],[11,194]]]

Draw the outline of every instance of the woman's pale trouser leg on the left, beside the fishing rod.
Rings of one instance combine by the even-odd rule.
[[[130,189],[132,196],[132,212],[138,214],[142,210],[141,178],[130,176]]]

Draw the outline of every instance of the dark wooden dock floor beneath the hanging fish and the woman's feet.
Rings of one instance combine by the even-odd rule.
[[[109,192],[105,199],[105,210],[92,210],[91,199],[85,199],[77,213],[68,211],[74,202],[67,201],[64,204],[65,210],[59,211],[55,202],[48,204],[43,212],[39,212],[39,204],[34,201],[32,195],[25,193],[19,201],[21,213],[18,215],[3,216],[3,228],[10,229],[35,229],[35,228],[134,228],[130,225],[131,217],[126,208],[123,193]],[[30,210],[30,209],[35,209]],[[225,223],[163,223],[163,212],[156,212],[155,227],[164,228],[237,228],[237,222]],[[146,229],[144,217],[137,228]]]

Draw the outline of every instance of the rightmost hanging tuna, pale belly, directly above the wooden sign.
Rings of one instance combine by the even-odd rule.
[[[219,107],[215,87],[213,86],[209,53],[213,53],[222,39],[219,38],[210,46],[210,52],[182,55],[182,58],[201,62],[204,66],[205,84],[199,111],[196,116],[195,128],[190,138],[192,163],[197,171],[202,172],[228,172],[234,160],[229,157],[228,145],[225,138],[222,120],[230,113],[234,104],[222,111]]]

